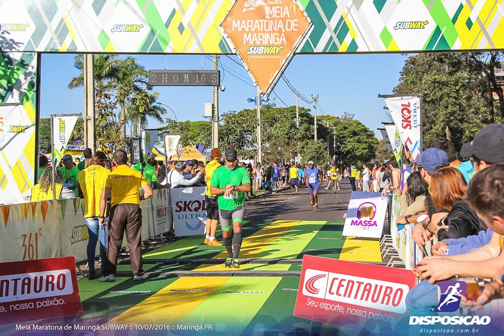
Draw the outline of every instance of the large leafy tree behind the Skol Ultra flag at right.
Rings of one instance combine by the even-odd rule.
[[[488,121],[482,74],[471,69],[462,53],[420,53],[405,61],[393,91],[423,95],[424,144],[447,138],[460,150]]]

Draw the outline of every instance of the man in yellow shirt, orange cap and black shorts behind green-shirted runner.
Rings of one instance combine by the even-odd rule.
[[[222,243],[215,239],[215,231],[219,223],[219,204],[217,203],[217,195],[210,191],[210,182],[214,171],[221,166],[219,163],[222,158],[221,150],[218,148],[212,149],[210,152],[212,161],[205,167],[205,181],[207,182],[207,190],[205,190],[205,201],[207,204],[207,223],[205,244],[209,246],[222,246]]]

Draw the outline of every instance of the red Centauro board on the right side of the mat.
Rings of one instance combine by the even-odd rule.
[[[411,271],[312,255],[303,256],[294,316],[375,331],[406,314]],[[405,317],[407,318],[407,317]]]

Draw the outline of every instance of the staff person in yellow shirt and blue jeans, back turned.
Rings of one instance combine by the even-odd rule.
[[[107,229],[102,226],[99,230],[98,216],[100,215],[100,196],[105,181],[110,170],[105,168],[105,162],[108,160],[103,152],[96,152],[91,158],[87,168],[79,172],[79,186],[85,199],[84,219],[88,227],[89,240],[87,247],[89,276],[88,280],[98,279],[95,271],[95,255],[98,237],[100,238],[100,258],[101,273],[105,270],[105,260],[107,259]],[[106,215],[106,214],[105,214]]]

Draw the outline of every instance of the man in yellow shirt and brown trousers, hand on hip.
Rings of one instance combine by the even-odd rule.
[[[107,199],[112,196],[108,227],[107,262],[100,282],[114,282],[117,265],[117,254],[121,249],[122,237],[126,232],[126,240],[130,249],[131,270],[133,280],[145,280],[147,275],[142,269],[142,210],[140,199],[152,196],[152,189],[141,172],[128,167],[128,154],[117,150],[113,156],[112,172],[108,174],[105,187],[100,197],[100,225],[107,225],[105,207]],[[144,194],[140,196],[139,188]]]

